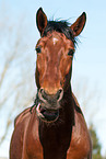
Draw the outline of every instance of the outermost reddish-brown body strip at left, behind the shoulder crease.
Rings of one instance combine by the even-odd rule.
[[[24,136],[30,118],[30,109],[26,109],[14,121],[14,130],[10,144],[10,159],[20,159],[23,156]]]

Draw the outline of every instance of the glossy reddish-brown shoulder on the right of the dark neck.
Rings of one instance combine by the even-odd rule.
[[[85,159],[90,158],[92,144],[90,138],[90,133],[82,114],[81,107],[76,101],[76,98],[73,94],[74,101],[74,126],[72,128],[72,137],[70,147],[68,149],[68,158],[74,159]]]

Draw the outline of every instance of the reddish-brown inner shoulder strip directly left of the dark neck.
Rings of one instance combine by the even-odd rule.
[[[36,115],[36,111],[34,110],[25,133],[25,141],[24,141],[24,157],[23,158],[37,158],[43,159],[43,147],[39,140],[39,132],[38,132],[38,118]]]

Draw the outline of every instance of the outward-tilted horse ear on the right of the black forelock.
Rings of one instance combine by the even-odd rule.
[[[70,26],[70,29],[73,31],[73,35],[74,36],[78,36],[82,32],[82,30],[83,30],[83,27],[85,25],[85,22],[86,22],[86,13],[83,12],[76,19],[76,21]]]

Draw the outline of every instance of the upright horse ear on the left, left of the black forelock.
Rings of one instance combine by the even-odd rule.
[[[38,29],[38,31],[39,31],[39,33],[42,35],[43,32],[44,32],[44,29],[47,25],[47,16],[44,13],[42,8],[39,8],[37,13],[36,13],[36,24],[37,24],[37,29]]]

